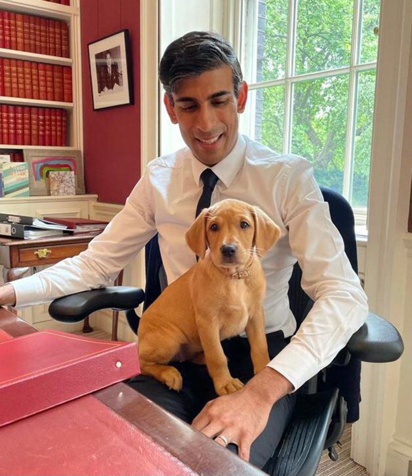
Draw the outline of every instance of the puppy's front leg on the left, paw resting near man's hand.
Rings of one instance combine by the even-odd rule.
[[[200,342],[206,357],[206,366],[213,380],[216,393],[226,395],[234,393],[243,387],[243,383],[233,378],[229,372],[228,360],[220,343],[219,327],[212,321],[199,322],[202,319],[196,319]]]

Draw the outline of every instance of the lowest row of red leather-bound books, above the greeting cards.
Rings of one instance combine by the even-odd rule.
[[[67,111],[1,104],[0,142],[9,145],[67,145]]]

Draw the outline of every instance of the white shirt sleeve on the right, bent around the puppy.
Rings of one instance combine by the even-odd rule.
[[[326,367],[366,319],[368,306],[359,279],[333,225],[329,206],[305,160],[284,180],[282,213],[302,288],[314,301],[291,342],[270,363],[298,389]]]

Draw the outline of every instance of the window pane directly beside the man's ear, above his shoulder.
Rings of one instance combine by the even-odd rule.
[[[255,105],[255,140],[282,153],[285,87],[272,86],[253,91]]]

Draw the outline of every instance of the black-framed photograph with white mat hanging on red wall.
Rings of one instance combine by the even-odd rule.
[[[129,31],[88,44],[93,109],[133,104],[133,77]]]

